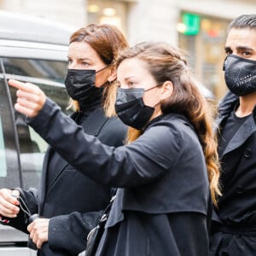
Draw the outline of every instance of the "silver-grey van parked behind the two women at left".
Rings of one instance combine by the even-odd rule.
[[[0,189],[38,188],[47,144],[14,110],[8,79],[38,84],[63,111],[67,45],[76,29],[53,21],[0,11]],[[0,255],[36,255],[27,235],[0,225]]]

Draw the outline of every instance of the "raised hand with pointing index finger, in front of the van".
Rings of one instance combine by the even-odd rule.
[[[15,109],[30,118],[37,116],[46,101],[44,91],[35,84],[22,83],[14,79],[9,79],[9,85],[18,89]]]

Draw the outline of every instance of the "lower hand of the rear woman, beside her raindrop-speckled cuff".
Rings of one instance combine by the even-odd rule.
[[[48,241],[49,218],[36,218],[27,226],[30,238],[40,249],[45,241]]]

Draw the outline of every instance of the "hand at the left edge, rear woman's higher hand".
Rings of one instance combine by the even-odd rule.
[[[20,196],[18,190],[0,189],[0,215],[7,218],[16,218],[20,212],[20,203],[17,198]]]

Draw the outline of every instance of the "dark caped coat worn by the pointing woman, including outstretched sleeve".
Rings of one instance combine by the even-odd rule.
[[[135,142],[119,148],[84,134],[49,100],[30,125],[80,172],[120,188],[96,255],[208,255],[207,167],[182,115],[154,119]],[[71,142],[76,150],[67,147]]]

